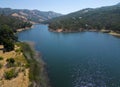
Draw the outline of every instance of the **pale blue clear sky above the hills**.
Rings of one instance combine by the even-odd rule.
[[[109,6],[119,2],[120,0],[0,0],[0,7],[38,9],[66,14],[83,8]]]

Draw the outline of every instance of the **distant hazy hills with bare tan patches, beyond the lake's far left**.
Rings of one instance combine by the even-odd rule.
[[[62,14],[52,11],[43,12],[39,10],[0,8],[0,14],[11,15],[23,19],[24,21],[42,22],[48,19],[59,17]]]

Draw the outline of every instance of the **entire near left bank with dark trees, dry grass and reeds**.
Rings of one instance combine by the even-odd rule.
[[[32,43],[17,39],[17,28],[31,25],[16,17],[0,15],[0,87],[49,87],[39,53]]]

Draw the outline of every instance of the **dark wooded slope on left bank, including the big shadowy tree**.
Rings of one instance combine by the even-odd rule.
[[[4,51],[14,49],[14,43],[17,41],[15,32],[18,28],[31,26],[31,23],[24,22],[18,18],[0,15],[0,45],[4,46]]]

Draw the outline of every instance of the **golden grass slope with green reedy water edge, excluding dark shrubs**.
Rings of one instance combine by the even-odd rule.
[[[3,53],[0,50],[0,87],[50,87],[45,71],[45,64],[39,54],[35,52],[32,44],[16,43],[15,50]],[[15,59],[15,66],[6,67],[8,58]],[[5,80],[4,73],[10,69],[18,70],[18,76]],[[24,70],[24,71],[23,71]],[[20,85],[18,85],[20,84]]]

